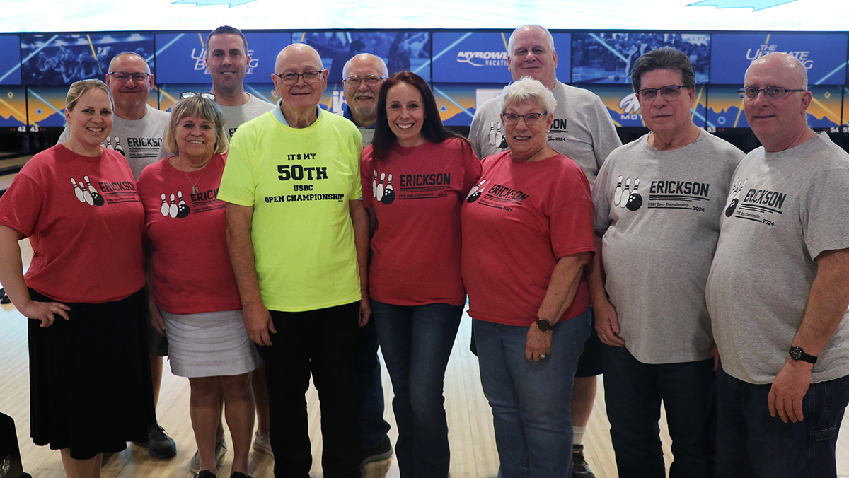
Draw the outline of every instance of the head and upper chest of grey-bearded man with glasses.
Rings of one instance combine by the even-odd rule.
[[[363,135],[363,148],[374,138],[377,122],[377,97],[389,71],[383,59],[371,53],[360,53],[349,59],[342,69],[345,84],[345,107],[342,115],[351,120]]]

